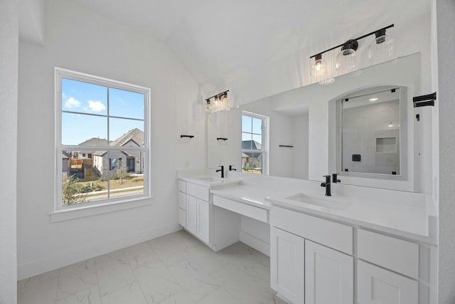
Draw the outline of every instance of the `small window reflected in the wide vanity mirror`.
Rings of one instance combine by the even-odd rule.
[[[242,112],[242,172],[267,174],[267,117]]]

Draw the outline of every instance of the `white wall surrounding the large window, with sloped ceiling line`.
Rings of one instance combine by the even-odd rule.
[[[19,278],[176,231],[176,169],[205,164],[199,87],[171,49],[75,1],[45,4],[44,45],[19,44]],[[150,206],[50,223],[55,66],[151,88]]]

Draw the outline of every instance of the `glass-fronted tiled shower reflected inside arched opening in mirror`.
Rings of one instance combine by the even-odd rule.
[[[400,88],[341,103],[341,171],[400,175]]]

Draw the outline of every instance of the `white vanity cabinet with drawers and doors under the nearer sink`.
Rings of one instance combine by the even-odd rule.
[[[428,304],[429,248],[272,205],[270,281],[293,304]]]

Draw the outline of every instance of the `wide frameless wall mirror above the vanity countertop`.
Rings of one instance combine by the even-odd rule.
[[[318,181],[338,172],[345,184],[418,192],[420,82],[417,53],[211,113],[207,166]],[[242,132],[245,115],[264,118],[260,142],[259,129]]]

